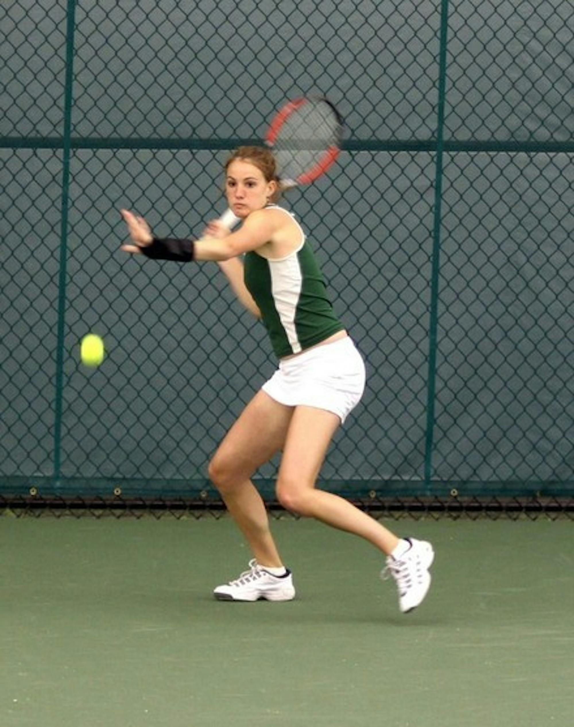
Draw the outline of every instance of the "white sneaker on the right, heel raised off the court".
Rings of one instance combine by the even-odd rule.
[[[424,540],[405,538],[411,547],[400,558],[387,558],[387,567],[381,571],[381,578],[387,580],[389,574],[397,582],[399,608],[408,614],[419,606],[430,587],[429,568],[434,561],[432,545]]]

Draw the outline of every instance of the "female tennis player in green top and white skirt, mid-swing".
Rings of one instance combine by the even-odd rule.
[[[249,569],[214,590],[222,601],[290,601],[295,588],[270,531],[262,497],[251,477],[278,451],[276,482],[287,510],[315,518],[371,542],[387,556],[381,576],[397,582],[403,613],[423,601],[434,558],[428,542],[400,539],[347,499],[315,488],[337,428],[360,401],[365,365],[336,317],[304,231],[276,204],[275,157],[243,147],[225,167],[230,209],[242,224],[230,232],[211,222],[196,241],[158,239],[147,222],[122,210],[131,242],[122,249],[160,260],[214,260],[240,302],[261,318],[279,360],[225,436],[209,476],[246,538]],[[243,258],[243,260],[241,259]]]

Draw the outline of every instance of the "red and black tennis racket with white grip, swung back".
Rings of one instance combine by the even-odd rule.
[[[278,111],[265,136],[277,161],[282,190],[309,184],[333,166],[339,156],[343,121],[326,98],[307,96]],[[233,228],[239,218],[228,209],[219,218]]]

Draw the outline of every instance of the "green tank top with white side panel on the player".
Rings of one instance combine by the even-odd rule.
[[[273,205],[273,209],[291,215],[283,207]],[[302,242],[287,257],[270,260],[251,251],[243,259],[245,284],[261,310],[278,358],[300,353],[344,329],[328,299],[312,248],[296,224]]]

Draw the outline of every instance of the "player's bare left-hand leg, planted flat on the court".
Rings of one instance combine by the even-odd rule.
[[[219,490],[256,561],[283,565],[273,540],[267,510],[251,475],[283,447],[293,407],[283,406],[259,391],[243,410],[209,465]]]

